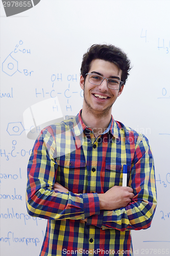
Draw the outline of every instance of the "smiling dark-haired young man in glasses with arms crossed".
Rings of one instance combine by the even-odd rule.
[[[148,139],[111,115],[129,70],[122,50],[91,46],[81,67],[82,110],[35,142],[27,209],[48,220],[40,255],[133,255],[131,229],[151,225],[157,202]]]

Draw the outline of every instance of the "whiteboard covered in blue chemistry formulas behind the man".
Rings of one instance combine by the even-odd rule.
[[[164,0],[41,0],[6,17],[1,6],[2,256],[39,255],[46,227],[26,210],[34,144],[27,134],[36,138],[41,127],[25,129],[23,113],[57,97],[62,114],[75,116],[83,102],[82,56],[103,43],[122,48],[133,66],[113,117],[147,136],[155,159],[158,206],[149,229],[132,231],[134,255],[170,254],[169,8]],[[55,102],[52,111],[58,107]]]

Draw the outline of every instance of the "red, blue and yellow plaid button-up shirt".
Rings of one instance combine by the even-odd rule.
[[[122,186],[124,164],[135,197],[125,208],[100,210],[98,194]],[[55,182],[69,192],[54,190]],[[153,157],[142,134],[112,117],[95,138],[81,112],[41,131],[27,184],[29,214],[48,220],[41,256],[133,255],[131,229],[150,227],[156,204]]]

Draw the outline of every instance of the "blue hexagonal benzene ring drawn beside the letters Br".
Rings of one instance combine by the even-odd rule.
[[[13,76],[18,70],[18,61],[14,59],[11,54],[4,60],[2,64],[2,71],[9,76]]]

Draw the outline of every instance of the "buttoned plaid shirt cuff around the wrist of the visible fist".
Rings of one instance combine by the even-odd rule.
[[[83,206],[84,206],[84,219],[100,214],[100,204],[98,193],[86,193],[82,194]]]

